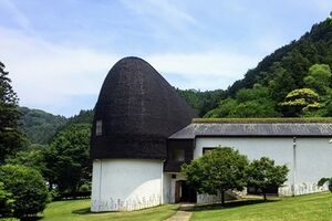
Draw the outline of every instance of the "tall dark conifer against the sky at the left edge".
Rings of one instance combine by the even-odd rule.
[[[0,62],[0,165],[25,143],[18,128],[20,112],[18,96],[10,85],[4,64]]]

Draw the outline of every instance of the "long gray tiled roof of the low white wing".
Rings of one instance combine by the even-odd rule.
[[[220,124],[193,123],[169,138],[194,139],[196,136],[248,136],[248,137],[332,137],[332,124],[328,123],[271,123]]]

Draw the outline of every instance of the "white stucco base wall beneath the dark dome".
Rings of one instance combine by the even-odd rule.
[[[94,160],[91,210],[129,211],[160,204],[165,183],[162,160]]]

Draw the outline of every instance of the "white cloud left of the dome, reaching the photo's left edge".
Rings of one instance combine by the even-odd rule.
[[[71,49],[0,29],[1,61],[23,105],[62,105],[69,97],[97,94],[113,54]],[[80,108],[77,108],[80,109]]]

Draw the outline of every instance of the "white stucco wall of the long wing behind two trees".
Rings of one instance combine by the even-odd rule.
[[[332,176],[332,145],[329,138],[297,138],[295,144],[294,164],[293,138],[200,137],[196,138],[194,158],[203,155],[204,147],[234,147],[250,160],[264,156],[277,165],[288,166],[288,181],[279,189],[280,194],[291,196],[293,182],[295,194],[325,190],[326,187],[319,188],[317,182],[322,177]]]

